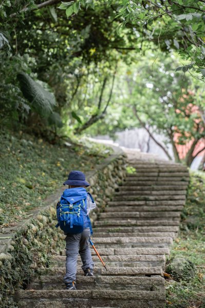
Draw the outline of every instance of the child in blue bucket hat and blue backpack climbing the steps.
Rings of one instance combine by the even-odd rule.
[[[90,234],[92,234],[89,212],[96,207],[85,187],[90,186],[81,171],[71,171],[68,185],[57,204],[57,218],[60,228],[66,235],[66,275],[64,282],[67,290],[77,290],[76,272],[77,259],[80,253],[83,262],[84,276],[93,276],[94,263],[89,248]]]

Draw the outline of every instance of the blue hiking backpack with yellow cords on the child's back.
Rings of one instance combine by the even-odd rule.
[[[87,215],[87,196],[92,196],[83,187],[65,189],[57,204],[56,227],[64,231],[65,234],[75,234],[83,232],[84,228],[89,227],[92,234],[90,219]]]

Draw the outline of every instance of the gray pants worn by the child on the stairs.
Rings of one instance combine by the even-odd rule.
[[[68,234],[66,240],[66,275],[65,283],[76,281],[78,253],[80,253],[83,262],[82,269],[93,268],[94,263],[90,253],[89,240],[90,229],[85,228],[82,233]]]

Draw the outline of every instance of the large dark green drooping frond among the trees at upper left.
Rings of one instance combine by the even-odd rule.
[[[20,87],[24,97],[29,101],[30,106],[42,118],[48,118],[56,106],[55,97],[49,91],[46,91],[40,84],[36,83],[26,73],[17,74]]]

